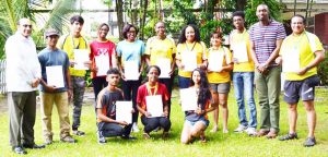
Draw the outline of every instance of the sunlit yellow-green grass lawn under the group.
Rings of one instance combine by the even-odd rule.
[[[280,142],[276,140],[267,140],[266,137],[249,137],[246,134],[233,133],[238,125],[237,105],[233,95],[233,90],[229,97],[229,134],[222,133],[222,123],[220,121],[220,131],[211,133],[210,123],[207,130],[208,143],[203,144],[196,141],[191,145],[183,145],[179,142],[180,132],[184,123],[184,114],[178,105],[177,90],[173,95],[172,106],[172,132],[171,138],[162,141],[162,132],[151,133],[153,140],[145,141],[142,138],[142,132],[132,133],[138,140],[134,142],[122,141],[118,137],[107,138],[107,144],[99,145],[96,137],[95,114],[92,105],[85,105],[82,111],[81,130],[86,132],[83,137],[75,137],[77,144],[67,144],[59,142],[59,124],[57,110],[54,110],[52,129],[55,143],[45,149],[34,150],[27,149],[28,156],[311,156],[311,157],[328,157],[328,90],[318,89],[316,100],[317,128],[316,140],[317,145],[314,147],[303,147],[303,142],[307,135],[306,112],[303,105],[298,107],[297,133],[298,140],[290,142]],[[256,100],[257,101],[257,100]],[[257,105],[257,110],[259,107]],[[43,143],[40,111],[37,110],[35,124],[35,141],[37,144]],[[258,116],[259,119],[259,116]],[[9,146],[9,122],[8,113],[0,112],[0,156],[15,156]],[[212,114],[210,113],[210,120]],[[220,116],[221,120],[221,116]],[[281,100],[280,113],[280,135],[288,133],[288,113],[286,104]],[[141,122],[139,128],[142,129]]]

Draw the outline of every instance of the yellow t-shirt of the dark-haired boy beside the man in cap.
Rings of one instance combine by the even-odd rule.
[[[89,44],[82,36],[74,38],[71,35],[63,35],[59,38],[57,47],[66,51],[70,60],[74,60],[74,49],[87,49],[90,53]],[[71,67],[69,69],[72,76],[84,76],[86,73],[85,70],[74,70]]]

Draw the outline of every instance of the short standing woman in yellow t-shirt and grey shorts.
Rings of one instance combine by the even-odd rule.
[[[227,133],[227,95],[230,92],[230,71],[233,70],[231,51],[221,45],[222,35],[219,32],[211,34],[211,45],[208,59],[208,80],[214,104],[219,104],[223,113],[223,133]],[[214,126],[211,132],[218,131],[219,108],[214,111]]]

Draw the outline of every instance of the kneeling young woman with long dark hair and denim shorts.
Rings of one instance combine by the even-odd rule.
[[[192,143],[194,138],[198,136],[200,137],[201,142],[207,142],[204,131],[210,123],[207,113],[218,108],[218,106],[215,106],[215,104],[213,104],[211,100],[212,98],[209,89],[209,82],[206,73],[202,70],[196,69],[192,71],[190,83],[190,88],[195,88],[198,96],[198,109],[195,111],[187,111],[186,113],[185,124],[181,133],[183,144]]]

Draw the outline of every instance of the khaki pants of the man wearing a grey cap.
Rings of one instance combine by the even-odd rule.
[[[61,93],[40,93],[40,109],[43,120],[43,134],[45,140],[52,140],[51,114],[54,104],[57,107],[60,137],[70,135],[70,120],[69,120],[69,100],[67,92]]]

